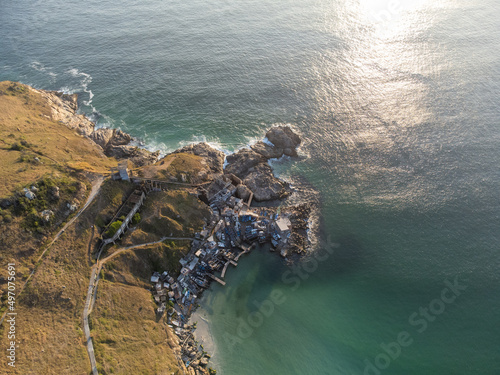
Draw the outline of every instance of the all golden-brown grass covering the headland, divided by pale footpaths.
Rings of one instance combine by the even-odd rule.
[[[159,170],[152,169],[155,175],[191,181],[202,172],[202,163],[192,155],[167,159],[168,165],[163,161]],[[87,210],[36,263],[55,233],[86,201],[92,172],[108,173],[116,161],[51,120],[51,109],[38,93],[1,82],[0,163],[0,203],[10,204],[0,209],[0,262],[16,263],[19,287],[36,269],[17,298],[17,360],[9,373],[88,374],[82,313],[95,261],[92,252],[100,232],[135,186],[106,180]],[[36,195],[34,199],[26,196],[28,190]],[[44,211],[52,212],[46,220]],[[150,194],[140,215],[137,228],[108,254],[123,245],[164,236],[192,237],[208,218],[208,208],[192,192],[174,189]],[[104,266],[90,316],[101,374],[179,373],[172,354],[176,338],[156,319],[149,277],[154,271],[178,272],[179,259],[189,248],[189,241],[165,241],[123,252]],[[0,268],[4,308],[6,270]],[[6,340],[5,323],[0,340]],[[0,368],[7,369],[5,356]]]

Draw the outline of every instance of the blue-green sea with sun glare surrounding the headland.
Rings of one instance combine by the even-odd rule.
[[[1,80],[78,92],[150,147],[302,132],[304,156],[279,170],[319,191],[333,254],[296,289],[263,249],[212,287],[218,373],[500,374],[500,4],[395,4],[0,3]],[[467,289],[440,302],[457,277]],[[425,330],[420,308],[439,312]]]

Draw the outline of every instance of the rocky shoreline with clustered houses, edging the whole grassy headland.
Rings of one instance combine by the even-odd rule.
[[[121,130],[96,129],[92,121],[77,114],[77,94],[35,91],[50,104],[53,119],[91,140],[106,156],[130,161],[135,167],[162,163],[159,151],[134,146],[134,139]],[[234,265],[257,242],[271,242],[272,249],[284,258],[303,254],[310,247],[310,204],[265,207],[265,202],[283,200],[293,191],[289,183],[274,175],[269,160],[297,157],[301,143],[300,136],[289,126],[275,126],[262,141],[227,157],[207,143],[191,144],[169,154],[192,154],[202,159],[207,171],[198,191],[200,199],[212,209],[211,222],[197,234],[191,252],[181,261],[181,275],[175,280],[172,276],[160,280],[159,274],[151,279],[158,314],[168,310],[169,323],[176,327],[177,338],[171,347],[190,375],[213,373],[206,368],[210,356],[194,338],[195,327],[187,325],[202,291],[213,280],[224,283],[213,273],[225,266],[223,278],[227,265]],[[264,202],[264,206],[251,207],[252,200]]]

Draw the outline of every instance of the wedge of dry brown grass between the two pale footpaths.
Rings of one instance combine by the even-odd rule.
[[[89,372],[81,314],[90,277],[87,244],[92,211],[53,245],[18,299],[17,374]]]

